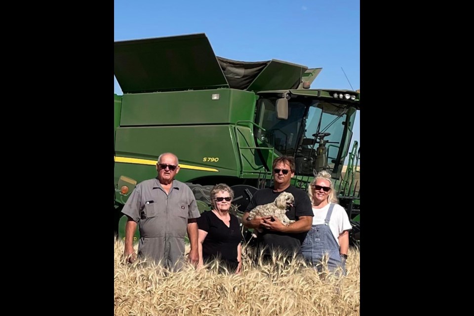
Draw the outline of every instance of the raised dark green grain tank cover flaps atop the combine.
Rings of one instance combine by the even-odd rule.
[[[217,57],[205,34],[114,44],[114,73],[123,93],[293,89],[307,69],[275,59],[242,62]]]

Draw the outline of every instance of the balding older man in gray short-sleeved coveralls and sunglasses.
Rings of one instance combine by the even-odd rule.
[[[125,258],[136,259],[133,235],[140,229],[138,256],[154,259],[167,268],[179,269],[184,263],[186,230],[191,242],[190,262],[196,266],[197,218],[196,198],[184,183],[174,180],[179,172],[178,157],[161,154],[157,163],[158,177],[139,183],[123,206],[128,216],[125,226]]]

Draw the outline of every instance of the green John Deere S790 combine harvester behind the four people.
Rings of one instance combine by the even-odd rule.
[[[360,93],[310,89],[320,70],[217,57],[204,34],[115,42],[123,91],[115,95],[117,221],[135,185],[156,177],[164,152],[178,156],[176,179],[193,189],[201,211],[209,209],[209,187],[226,183],[238,215],[257,189],[271,185],[274,158],[289,155],[296,159],[293,184],[306,189],[316,171],[329,170],[353,219],[359,156],[349,147]]]

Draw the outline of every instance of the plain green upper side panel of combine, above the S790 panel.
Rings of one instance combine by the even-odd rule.
[[[212,97],[218,98],[213,100]],[[126,94],[120,126],[229,123],[253,120],[256,96],[235,89]]]

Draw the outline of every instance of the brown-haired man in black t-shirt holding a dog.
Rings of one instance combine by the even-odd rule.
[[[301,243],[313,224],[313,209],[311,201],[306,192],[290,185],[291,178],[295,175],[295,160],[293,157],[279,157],[273,162],[275,184],[274,188],[265,188],[257,191],[250,200],[245,213],[242,216],[243,225],[247,228],[261,227],[263,233],[258,233],[258,253],[264,250],[264,259],[270,259],[273,251],[286,252],[292,256],[294,252],[299,253]],[[275,201],[282,192],[289,192],[295,198],[293,206],[286,212],[290,220],[296,222],[284,226],[277,218],[271,216],[255,217],[247,220],[249,212],[257,205],[263,205]]]

